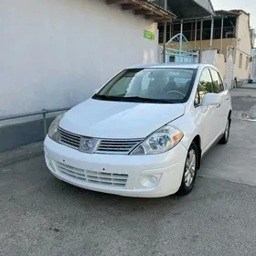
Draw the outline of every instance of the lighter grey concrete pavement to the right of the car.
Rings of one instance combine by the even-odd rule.
[[[256,123],[242,119],[242,113],[256,118],[256,91],[231,91],[233,115],[229,144],[217,145],[202,164],[201,176],[256,186]]]

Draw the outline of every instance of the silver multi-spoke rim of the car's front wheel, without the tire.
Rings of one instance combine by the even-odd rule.
[[[190,149],[187,154],[187,160],[185,165],[185,184],[189,187],[195,177],[196,173],[196,165],[197,165],[197,155],[195,149]]]

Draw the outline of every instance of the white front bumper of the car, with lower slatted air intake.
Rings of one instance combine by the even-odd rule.
[[[69,184],[127,197],[165,197],[181,184],[187,149],[183,144],[160,155],[85,154],[58,144],[48,136],[44,142],[50,172]],[[144,183],[154,176],[155,183]],[[143,185],[144,184],[144,185]]]

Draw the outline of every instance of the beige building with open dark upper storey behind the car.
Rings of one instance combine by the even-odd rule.
[[[214,16],[176,19],[167,31],[167,40],[182,31],[194,52],[203,51],[202,59],[198,58],[198,61],[215,63],[223,77],[229,80],[229,86],[235,78],[248,80],[251,63],[250,14],[243,10],[219,10]],[[160,27],[159,35],[161,43],[163,27]],[[178,48],[178,45],[179,40],[174,40],[166,48]]]

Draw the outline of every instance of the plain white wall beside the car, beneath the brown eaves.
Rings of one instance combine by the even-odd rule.
[[[104,0],[0,1],[0,37],[0,116],[74,105],[158,60],[156,24]]]

